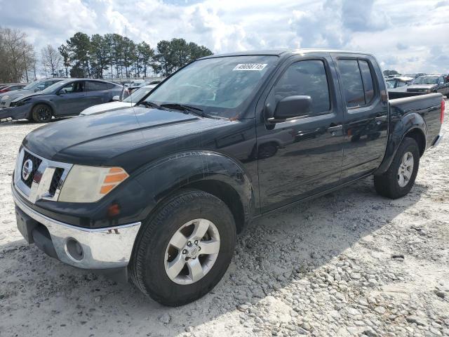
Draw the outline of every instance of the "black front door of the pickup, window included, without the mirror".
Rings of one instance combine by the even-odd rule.
[[[262,212],[340,183],[343,112],[336,87],[333,61],[323,53],[294,56],[278,72],[257,119],[255,156]],[[292,95],[310,96],[311,111],[270,121],[276,104]]]

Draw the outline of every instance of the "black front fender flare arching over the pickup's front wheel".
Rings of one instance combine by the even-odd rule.
[[[147,205],[140,218],[175,190],[200,180],[217,180],[232,187],[240,197],[246,220],[253,213],[254,193],[249,174],[235,159],[214,151],[172,154],[135,172],[135,179],[147,191]]]

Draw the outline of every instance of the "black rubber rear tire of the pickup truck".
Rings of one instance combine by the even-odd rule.
[[[401,173],[399,170],[404,167],[401,165],[403,164],[403,158],[406,154],[411,154],[413,156],[413,169],[403,170],[404,172],[408,171],[411,174],[408,180],[402,180],[401,183]],[[408,156],[410,157],[410,155]],[[410,192],[415,184],[419,166],[420,150],[416,140],[406,137],[402,141],[401,145],[399,145],[396,155],[394,156],[387,172],[379,176],[374,176],[374,186],[377,194],[390,199],[398,199],[405,196],[408,192]]]

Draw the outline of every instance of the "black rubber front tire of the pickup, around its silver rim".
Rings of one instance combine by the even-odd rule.
[[[194,219],[206,219],[215,226],[219,233],[219,250],[217,254],[212,254],[215,261],[210,269],[193,282],[189,277],[192,267],[187,263],[196,263],[210,256],[202,255],[200,251],[196,258],[189,258],[190,252],[186,255],[186,249],[177,250],[169,243],[181,227]],[[192,226],[196,230],[196,224],[183,227],[183,230]],[[210,230],[212,227],[208,228]],[[209,230],[204,237],[210,234]],[[185,236],[189,237],[189,233],[185,233]],[[197,240],[195,244],[196,242]],[[212,194],[200,190],[184,190],[163,202],[142,225],[129,264],[131,279],[140,291],[162,305],[185,305],[201,298],[220,282],[231,263],[235,242],[236,225],[226,204]],[[203,243],[207,244],[207,241],[201,239],[199,245]],[[189,260],[186,260],[185,267],[177,278],[172,279],[166,271],[167,260],[172,259],[170,263],[174,263],[177,258]]]

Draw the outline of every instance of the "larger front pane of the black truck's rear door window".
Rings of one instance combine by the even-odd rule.
[[[357,60],[338,60],[347,107],[365,105],[363,82]]]

